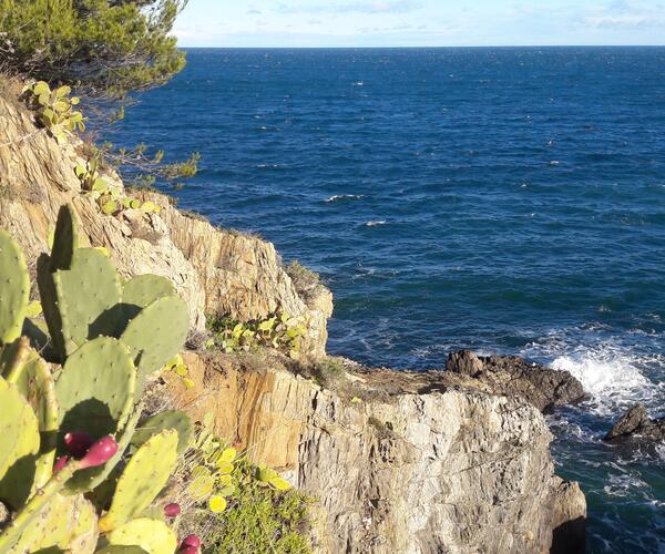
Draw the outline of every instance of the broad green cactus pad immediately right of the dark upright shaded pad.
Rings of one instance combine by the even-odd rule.
[[[94,248],[80,248],[70,269],[55,271],[53,281],[68,356],[88,339],[113,336],[116,317],[111,308],[120,302],[121,288],[106,256]]]

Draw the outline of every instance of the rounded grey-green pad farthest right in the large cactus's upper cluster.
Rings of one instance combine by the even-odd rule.
[[[178,297],[160,298],[130,321],[121,340],[139,360],[139,382],[178,352],[188,330],[187,305]]]

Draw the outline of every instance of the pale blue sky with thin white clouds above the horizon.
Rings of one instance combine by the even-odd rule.
[[[665,0],[190,0],[183,47],[664,44]]]

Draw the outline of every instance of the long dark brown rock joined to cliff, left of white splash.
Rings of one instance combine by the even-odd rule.
[[[497,394],[523,398],[545,411],[584,398],[582,383],[567,371],[529,363],[516,356],[475,356],[470,350],[451,352],[447,372],[482,381]]]

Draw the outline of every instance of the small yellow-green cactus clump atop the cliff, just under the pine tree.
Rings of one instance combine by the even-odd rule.
[[[37,120],[49,130],[59,143],[66,140],[68,134],[85,131],[83,114],[74,106],[79,104],[76,96],[71,96],[70,86],[51,90],[44,81],[25,85],[22,98],[31,110],[37,112]]]

